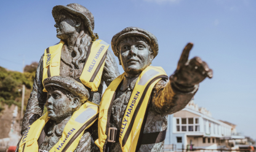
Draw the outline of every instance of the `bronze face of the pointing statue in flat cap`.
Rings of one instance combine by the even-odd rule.
[[[119,62],[127,74],[140,74],[153,60],[150,46],[144,41],[128,37],[120,42]]]

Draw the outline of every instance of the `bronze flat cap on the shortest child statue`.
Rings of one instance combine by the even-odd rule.
[[[44,88],[46,91],[49,91],[50,86],[58,86],[60,88],[66,89],[74,96],[79,96],[82,102],[89,99],[89,91],[86,89],[82,83],[77,82],[73,78],[63,77],[63,76],[54,76],[44,79]]]

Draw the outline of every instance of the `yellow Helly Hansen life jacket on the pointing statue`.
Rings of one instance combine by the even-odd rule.
[[[106,140],[110,128],[110,115],[116,91],[121,86],[124,74],[119,75],[110,86],[106,88],[100,102],[100,113],[98,116],[98,139],[95,144],[100,151],[105,151]],[[122,151],[134,152],[137,147],[138,138],[142,129],[143,121],[146,121],[145,113],[150,101],[151,91],[154,85],[162,78],[167,79],[166,72],[162,67],[148,66],[143,70],[135,83],[134,90],[127,104],[126,112],[122,118],[122,126],[119,134],[119,142]]]

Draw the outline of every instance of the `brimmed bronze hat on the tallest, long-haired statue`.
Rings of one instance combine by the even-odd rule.
[[[57,18],[58,15],[60,15],[61,10],[66,10],[67,12],[70,12],[73,15],[76,15],[77,17],[81,18],[81,20],[84,23],[84,26],[89,31],[90,37],[92,37],[92,40],[98,39],[98,34],[94,33],[94,15],[86,9],[86,7],[81,6],[77,3],[71,3],[67,6],[54,6],[52,9],[52,16],[54,18]]]

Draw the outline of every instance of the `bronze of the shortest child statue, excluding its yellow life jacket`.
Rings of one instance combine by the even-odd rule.
[[[66,123],[73,113],[89,99],[89,91],[84,86],[76,85],[77,82],[70,77],[50,77],[44,80],[44,86],[48,91],[46,107],[50,120],[44,127],[39,137],[39,150],[50,151],[60,137]],[[97,127],[93,127],[97,132]],[[94,151],[97,146],[92,142],[93,133],[84,131],[84,135],[75,151]],[[94,137],[95,138],[95,137]]]

